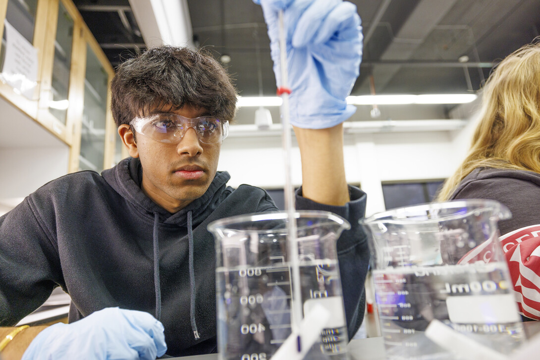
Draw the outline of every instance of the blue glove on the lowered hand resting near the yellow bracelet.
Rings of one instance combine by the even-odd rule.
[[[163,325],[144,311],[105,308],[40,332],[21,360],[154,360],[167,351]]]

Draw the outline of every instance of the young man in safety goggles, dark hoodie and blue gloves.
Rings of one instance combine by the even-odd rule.
[[[360,18],[342,0],[261,3],[278,84],[278,11],[285,14],[302,160],[296,207],[328,210],[352,225],[338,240],[352,336],[364,313],[368,249],[357,221],[366,195],[346,184],[342,122],[354,112],[345,98],[360,67]],[[206,226],[276,210],[262,189],[232,189],[230,176],[217,172],[236,93],[210,56],[150,49],[118,68],[111,90],[131,158],[102,175],[51,181],[0,218],[0,325],[14,326],[56,286],[72,298],[70,324],[0,328],[0,338],[15,332],[2,354],[8,360],[23,352],[24,360],[215,352],[215,250]]]

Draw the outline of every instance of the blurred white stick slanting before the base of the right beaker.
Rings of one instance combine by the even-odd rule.
[[[458,354],[464,359],[510,360],[508,356],[477,343],[436,319],[431,320],[425,335],[440,347]]]

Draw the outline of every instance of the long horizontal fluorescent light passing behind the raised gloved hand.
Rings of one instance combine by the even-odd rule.
[[[410,105],[410,104],[466,104],[474,101],[476,94],[395,94],[361,95],[347,97],[347,104],[353,105]],[[281,106],[281,98],[238,97],[238,107],[242,106]]]

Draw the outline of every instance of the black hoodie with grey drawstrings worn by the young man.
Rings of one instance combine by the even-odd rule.
[[[168,355],[216,351],[215,248],[206,227],[276,210],[274,202],[260,188],[226,186],[230,175],[218,172],[203,196],[171,214],[141,191],[141,179],[138,159],[102,175],[65,175],[0,218],[0,325],[14,325],[60,286],[72,299],[70,322],[107,307],[141,310],[163,322]],[[352,225],[338,254],[353,334],[363,318],[368,249],[357,225],[366,196],[354,187],[350,195],[346,206],[333,207],[302,198],[300,189],[296,205]]]

